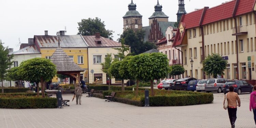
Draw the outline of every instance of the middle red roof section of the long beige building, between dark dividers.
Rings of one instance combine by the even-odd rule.
[[[235,4],[233,0],[206,10],[202,25],[232,17]]]

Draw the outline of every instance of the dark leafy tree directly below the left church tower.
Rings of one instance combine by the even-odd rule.
[[[144,42],[144,30],[137,30],[134,32],[132,29],[127,29],[120,35],[119,42],[124,41],[124,44],[131,47],[131,53],[133,55],[139,55],[153,48],[157,48],[154,43]]]

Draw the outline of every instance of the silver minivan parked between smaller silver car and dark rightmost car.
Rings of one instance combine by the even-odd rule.
[[[209,93],[211,91],[217,91],[217,93],[221,93],[223,91],[224,84],[227,82],[226,79],[208,79],[205,82],[204,90]]]

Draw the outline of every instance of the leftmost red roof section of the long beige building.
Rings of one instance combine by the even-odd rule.
[[[198,27],[202,13],[203,9],[186,14],[183,20],[183,23],[186,25],[186,29]]]

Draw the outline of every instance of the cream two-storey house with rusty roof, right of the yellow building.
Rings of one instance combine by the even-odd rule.
[[[109,79],[108,75],[102,71],[102,65],[105,61],[105,56],[109,53],[112,54],[112,58],[117,58],[118,51],[113,48],[120,48],[122,45],[116,41],[104,38],[100,36],[100,33],[92,36],[83,36],[85,41],[88,43],[88,68],[89,68],[89,83],[96,84],[109,84],[121,85],[122,80]],[[128,52],[126,53],[126,55]],[[94,72],[91,73],[91,70]],[[127,81],[124,81],[125,83]]]

